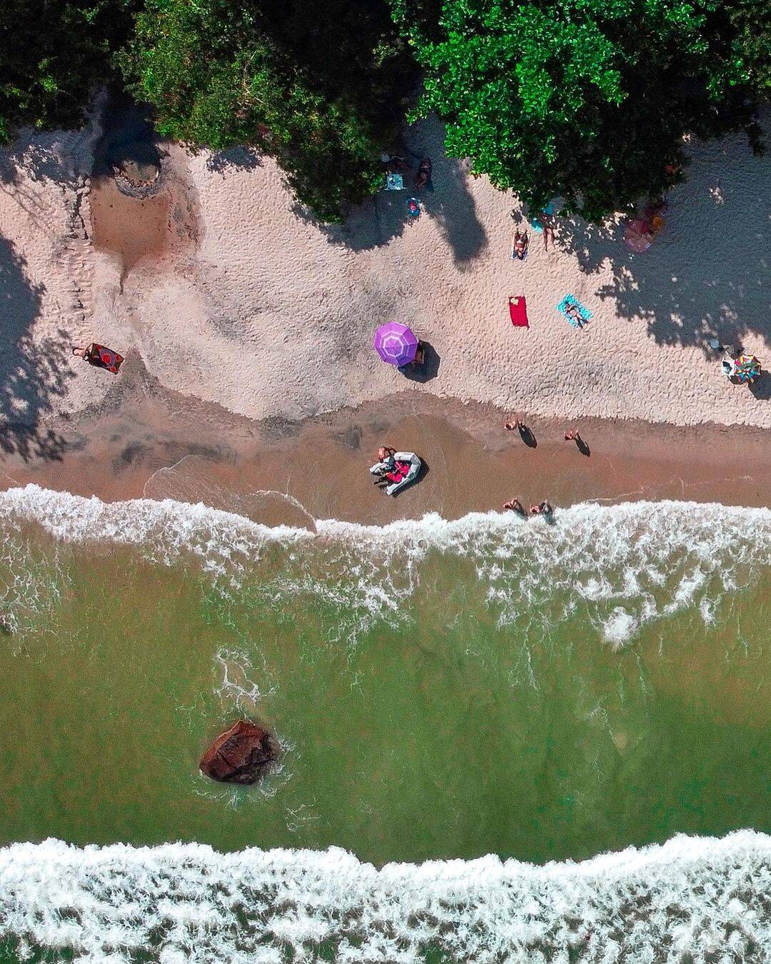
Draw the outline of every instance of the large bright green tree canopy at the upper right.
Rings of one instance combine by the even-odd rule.
[[[683,134],[756,133],[762,55],[720,0],[443,0],[438,23],[392,4],[425,69],[418,113],[535,209],[600,220],[677,180]]]

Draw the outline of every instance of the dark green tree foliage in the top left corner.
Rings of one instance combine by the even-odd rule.
[[[16,128],[76,126],[131,27],[132,0],[0,4],[0,142]]]

